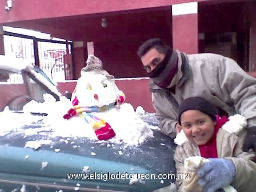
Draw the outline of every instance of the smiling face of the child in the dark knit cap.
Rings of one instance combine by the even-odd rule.
[[[214,134],[215,121],[199,110],[188,110],[180,116],[182,129],[188,138],[197,145],[204,145]]]

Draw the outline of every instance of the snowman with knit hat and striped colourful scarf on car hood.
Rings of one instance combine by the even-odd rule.
[[[126,143],[142,143],[154,137],[153,131],[125,103],[125,94],[115,84],[115,78],[103,69],[102,61],[89,55],[72,93],[73,107],[63,116],[84,119],[99,140],[118,139]],[[135,134],[134,134],[135,133]]]

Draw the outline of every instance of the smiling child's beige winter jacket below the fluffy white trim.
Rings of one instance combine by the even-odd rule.
[[[242,130],[237,136],[219,129],[217,133],[217,153],[218,158],[227,158],[233,161],[236,167],[234,181],[230,184],[238,192],[255,192],[256,191],[256,163],[250,161],[254,153],[243,152],[243,142],[246,136],[246,129]],[[185,171],[184,160],[191,156],[201,156],[198,145],[187,142],[177,146],[174,154],[175,166],[178,174]],[[185,192],[183,180],[176,179],[178,192]]]

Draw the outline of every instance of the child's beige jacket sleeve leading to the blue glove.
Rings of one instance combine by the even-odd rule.
[[[243,152],[243,143],[246,133],[246,131],[243,132],[236,143],[234,157],[227,159],[232,160],[236,168],[235,179],[231,185],[238,191],[253,192],[256,188],[256,163],[249,160],[254,155],[253,152]]]

